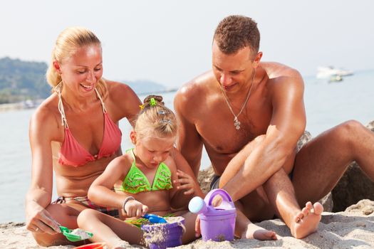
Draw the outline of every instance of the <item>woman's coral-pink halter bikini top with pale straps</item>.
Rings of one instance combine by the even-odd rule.
[[[65,127],[65,139],[63,140],[60,152],[58,152],[59,164],[82,166],[90,161],[95,161],[102,157],[110,157],[115,154],[120,147],[122,133],[118,126],[112,120],[110,120],[110,117],[105,109],[105,104],[98,90],[95,89],[95,91],[100,99],[104,113],[103,142],[101,142],[101,147],[96,155],[90,154],[87,149],[83,148],[78,143],[78,141],[73,137],[73,134],[71,134],[68,127],[68,122],[66,121],[65,112],[63,110],[61,91],[58,91],[58,110],[61,113],[62,124]]]

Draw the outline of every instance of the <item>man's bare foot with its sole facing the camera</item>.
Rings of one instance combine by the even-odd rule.
[[[312,203],[308,201],[300,212],[295,216],[293,224],[291,225],[291,234],[295,238],[304,238],[318,229],[318,224],[321,221],[321,213],[323,206],[321,203]]]

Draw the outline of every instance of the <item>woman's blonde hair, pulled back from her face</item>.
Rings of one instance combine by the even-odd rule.
[[[61,88],[61,75],[56,71],[53,66],[53,61],[57,60],[59,63],[63,63],[64,60],[68,59],[78,51],[79,48],[90,45],[98,45],[101,47],[101,42],[92,31],[82,27],[71,27],[66,28],[60,33],[56,40],[56,44],[52,51],[51,63],[46,73],[46,79],[49,85],[52,86],[52,92]],[[105,80],[101,78],[96,85],[100,95],[103,96],[106,92]]]

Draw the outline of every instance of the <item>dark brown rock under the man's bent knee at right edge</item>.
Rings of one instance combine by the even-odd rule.
[[[374,132],[374,121],[366,127]],[[374,165],[373,165],[374,166]],[[374,200],[374,183],[354,161],[348,166],[341,180],[331,191],[333,194],[333,212],[344,211],[350,205],[361,199]]]

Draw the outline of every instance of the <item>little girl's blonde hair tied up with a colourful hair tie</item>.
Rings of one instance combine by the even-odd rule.
[[[165,107],[162,97],[148,95],[145,97],[142,110],[137,115],[135,132],[138,137],[176,137],[177,118],[169,108]]]

